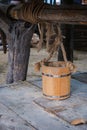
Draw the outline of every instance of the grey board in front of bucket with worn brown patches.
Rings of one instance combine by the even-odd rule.
[[[87,100],[78,98],[75,95],[64,101],[50,101],[40,97],[34,102],[45,111],[56,115],[68,123],[80,118],[87,120]]]

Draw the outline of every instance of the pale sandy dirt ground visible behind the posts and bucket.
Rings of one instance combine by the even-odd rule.
[[[28,65],[27,78],[32,76],[41,76],[40,72],[34,71],[34,65],[36,62],[47,57],[48,53],[45,49],[41,50],[39,53],[36,48],[31,48],[30,60]],[[57,55],[55,55],[51,60],[57,60]],[[87,52],[85,51],[74,51],[74,64],[77,66],[77,71],[87,72]],[[4,54],[0,51],[0,84],[5,83],[6,74],[8,68],[8,52]]]

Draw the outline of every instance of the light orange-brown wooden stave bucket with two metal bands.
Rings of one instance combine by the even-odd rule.
[[[49,99],[66,99],[70,96],[71,72],[65,62],[46,62],[42,65],[43,95]]]

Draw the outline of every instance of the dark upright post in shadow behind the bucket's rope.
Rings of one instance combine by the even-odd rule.
[[[62,34],[65,36],[65,39],[63,40],[63,44],[66,50],[66,55],[68,61],[73,62],[73,31],[74,31],[74,25],[68,25],[63,24],[61,25]],[[63,56],[61,49],[59,48],[59,54],[58,54],[58,60],[63,61]]]

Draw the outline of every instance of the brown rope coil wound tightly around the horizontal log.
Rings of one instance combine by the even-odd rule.
[[[36,24],[41,22],[38,14],[42,15],[44,6],[45,4],[42,0],[32,0],[29,4],[23,3],[11,9],[10,15],[15,19],[23,19]]]

